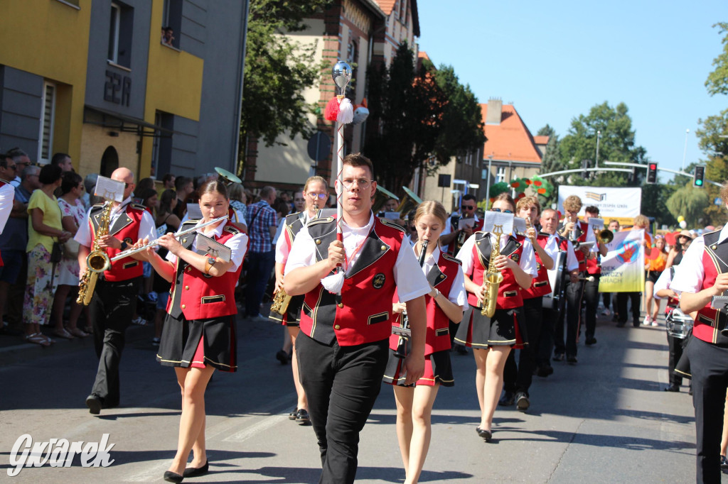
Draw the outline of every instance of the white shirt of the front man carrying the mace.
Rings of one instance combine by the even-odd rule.
[[[361,251],[356,251],[365,238],[368,237],[374,223],[374,215],[370,214],[369,223],[364,227],[349,227],[347,222],[341,221],[341,232],[344,235],[344,251],[347,254],[347,267],[352,267],[360,257]],[[308,227],[301,229],[293,241],[293,247],[288,254],[288,262],[284,273],[288,274],[297,267],[308,267],[316,263],[317,246],[309,234]],[[401,302],[411,301],[430,292],[430,283],[422,274],[422,269],[414,256],[414,250],[407,241],[402,240],[400,250],[397,252],[397,261],[394,267],[397,296]]]

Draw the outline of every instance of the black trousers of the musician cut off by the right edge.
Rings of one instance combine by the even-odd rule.
[[[721,482],[720,448],[728,388],[728,347],[693,338],[687,347],[695,406],[696,482]]]

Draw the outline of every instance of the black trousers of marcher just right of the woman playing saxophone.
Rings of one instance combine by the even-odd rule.
[[[523,299],[523,319],[526,322],[528,342],[518,350],[518,366],[515,364],[515,351],[508,354],[503,368],[503,387],[507,392],[524,392],[529,388],[536,369],[536,352],[541,339],[542,297]]]

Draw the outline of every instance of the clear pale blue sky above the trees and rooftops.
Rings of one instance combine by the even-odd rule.
[[[593,105],[625,102],[637,145],[660,167],[705,158],[698,119],[728,97],[710,97],[705,78],[721,52],[717,22],[728,1],[419,0],[419,48],[449,64],[480,102],[513,103],[533,134],[563,137]],[[660,172],[660,180],[671,174]]]

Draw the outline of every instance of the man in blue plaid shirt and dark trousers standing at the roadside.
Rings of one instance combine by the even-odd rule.
[[[248,207],[250,252],[248,285],[245,288],[246,318],[260,317],[261,300],[275,264],[272,241],[278,222],[276,211],[271,207],[276,198],[275,188],[263,187],[260,196],[260,201]]]

